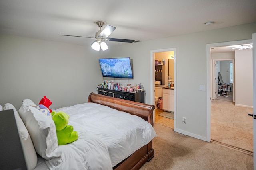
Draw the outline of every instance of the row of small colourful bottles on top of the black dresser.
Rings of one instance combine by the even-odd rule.
[[[116,90],[116,91],[122,91],[122,92],[136,92],[136,90],[141,89],[141,84],[134,84],[133,86],[131,84],[126,84],[126,86],[121,85],[121,83],[114,83],[113,81],[103,81],[103,83],[99,84],[98,87],[100,88],[106,88],[110,90]]]

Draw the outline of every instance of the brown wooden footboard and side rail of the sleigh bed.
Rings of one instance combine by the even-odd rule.
[[[132,115],[137,115],[148,121],[153,126],[153,110],[154,105],[148,105],[119,98],[104,96],[101,94],[91,93],[88,97],[88,102],[102,104],[119,111],[124,111]],[[150,161],[154,157],[154,149],[152,141],[144,145],[131,156],[120,162],[114,170],[138,170],[145,162]]]

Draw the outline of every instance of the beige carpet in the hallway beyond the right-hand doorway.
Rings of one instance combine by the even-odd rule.
[[[212,100],[211,139],[253,152],[253,118],[248,113],[252,114],[253,109]]]

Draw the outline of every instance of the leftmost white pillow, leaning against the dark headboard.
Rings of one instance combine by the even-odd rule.
[[[14,117],[16,120],[16,125],[18,129],[19,137],[20,137],[20,143],[22,146],[27,168],[28,170],[32,170],[36,167],[36,164],[37,164],[36,150],[31,141],[28,130],[26,129],[22,119],[20,118],[18,111],[15,109],[15,107],[12,104],[6,103],[4,105],[4,110],[10,110],[10,109],[13,109],[13,112],[14,112]]]

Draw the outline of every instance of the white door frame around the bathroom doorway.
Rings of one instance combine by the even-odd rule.
[[[177,92],[177,76],[176,76],[176,48],[168,48],[168,49],[157,49],[157,50],[151,50],[150,51],[150,63],[151,63],[151,67],[150,67],[150,92],[151,96],[150,96],[150,103],[152,105],[155,105],[155,53],[159,53],[159,52],[166,52],[166,51],[173,51],[174,52],[174,77],[175,77],[175,81],[174,81],[174,131],[176,130],[176,92]],[[153,121],[155,122],[155,110],[153,111]]]

